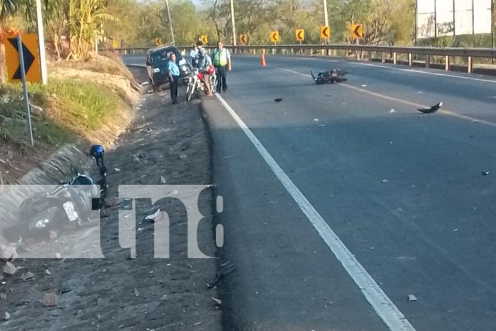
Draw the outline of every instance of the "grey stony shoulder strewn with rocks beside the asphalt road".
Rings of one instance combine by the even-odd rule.
[[[143,75],[143,69],[133,71]],[[15,260],[22,269],[2,276],[0,285],[5,297],[0,313],[10,315],[9,320],[0,318],[0,330],[221,330],[221,310],[212,300],[217,288],[205,287],[215,277],[217,260],[187,258],[187,222],[180,204],[137,200],[136,228],[141,230],[135,259],[118,238],[118,185],[211,183],[210,142],[199,101],[171,105],[168,91],[143,94],[132,125],[115,146],[105,160],[110,184],[108,217],[100,227],[105,258]],[[215,256],[211,190],[202,191],[198,203],[205,216],[198,245],[205,255]],[[169,211],[168,259],[154,258],[153,224],[143,221],[158,206]],[[61,234],[57,240],[74,235]],[[33,277],[22,280],[28,272]],[[58,305],[43,305],[46,292],[56,294]]]

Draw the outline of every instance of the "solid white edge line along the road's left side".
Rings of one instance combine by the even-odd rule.
[[[252,131],[247,127],[247,125],[242,121],[237,113],[229,106],[229,104],[219,96],[218,93],[215,96],[219,99],[222,105],[227,109],[229,114],[234,118],[234,121],[242,129],[244,134],[247,135],[252,144],[257,148],[262,158],[264,158],[267,165],[272,169],[274,174],[279,178],[284,188],[288,191],[291,197],[294,199],[296,204],[299,206],[301,211],[309,219],[310,223],[314,225],[324,242],[329,246],[332,253],[339,260],[343,268],[346,270],[348,275],[353,279],[355,284],[366,297],[366,300],[371,304],[376,313],[383,320],[386,325],[388,325],[391,331],[415,331],[410,322],[405,318],[405,315],[398,310],[398,307],[389,299],[386,293],[383,292],[381,287],[377,284],[375,280],[367,273],[365,268],[356,260],[355,256],[346,248],[344,243],[339,239],[339,237],[334,233],[334,231],[329,227],[322,216],[315,210],[314,206],[311,205],[309,200],[301,193],[299,188],[294,185],[294,183],[289,179],[288,175],[284,173],[279,164],[272,158],[267,149],[262,145]]]

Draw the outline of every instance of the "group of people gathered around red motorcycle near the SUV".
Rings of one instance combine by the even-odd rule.
[[[197,43],[190,51],[192,66],[198,68],[203,74],[203,83],[205,83],[205,93],[207,96],[212,96],[212,88],[215,87],[217,93],[227,91],[227,71],[231,71],[231,54],[229,50],[224,49],[222,41],[217,43],[217,48],[212,51],[212,54],[207,54],[207,50]],[[177,87],[179,83],[179,66],[176,63],[174,53],[170,54],[170,61],[167,62],[167,73],[170,80],[170,97],[172,103],[177,103]],[[210,86],[210,74],[213,70],[217,73],[217,86]]]

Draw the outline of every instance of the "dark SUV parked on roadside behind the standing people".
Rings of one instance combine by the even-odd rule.
[[[155,91],[167,83],[169,83],[169,76],[167,76],[167,62],[169,56],[174,53],[176,56],[176,63],[179,66],[180,77],[186,78],[190,75],[190,65],[187,63],[184,56],[174,45],[162,45],[148,50],[146,54],[146,69],[148,71],[148,78]]]

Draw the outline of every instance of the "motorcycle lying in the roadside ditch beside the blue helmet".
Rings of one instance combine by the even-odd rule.
[[[102,188],[103,187],[103,188]],[[100,193],[100,199],[94,198]],[[35,193],[19,207],[19,222],[4,229],[7,240],[47,237],[51,230],[65,230],[96,224],[103,207],[106,185],[78,174],[66,183],[57,185],[49,193]]]

